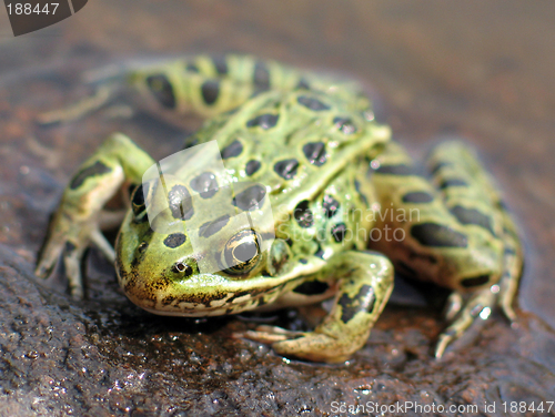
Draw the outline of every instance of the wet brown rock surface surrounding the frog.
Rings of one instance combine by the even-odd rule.
[[[412,401],[477,407],[462,416],[516,416],[511,401],[547,408],[555,400],[553,6],[133,4],[97,0],[56,27],[0,44],[0,415],[325,416]],[[413,305],[387,306],[352,360],[326,366],[234,338],[252,326],[241,317],[148,314],[127,301],[95,251],[87,257],[87,301],[71,301],[60,277],[39,282],[32,269],[48,216],[103,138],[122,131],[161,159],[184,135],[125,104],[49,126],[37,123],[39,114],[90,94],[87,71],[229,50],[372,82],[382,118],[416,156],[438,133],[468,136],[525,234],[517,323],[494,314],[435,360],[441,308],[410,293]],[[303,325],[292,312],[278,319]]]

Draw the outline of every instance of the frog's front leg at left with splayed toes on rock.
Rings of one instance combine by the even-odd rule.
[[[94,243],[114,261],[113,248],[99,227],[102,207],[124,181],[140,184],[143,172],[152,164],[154,161],[125,135],[117,133],[108,138],[65,187],[50,221],[36,274],[48,277],[63,254],[71,295],[82,298],[80,266],[87,246]]]

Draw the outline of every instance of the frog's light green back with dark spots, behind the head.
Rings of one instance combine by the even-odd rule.
[[[389,128],[351,95],[301,89],[259,94],[209,121],[190,143],[216,140],[234,181],[263,184],[273,206],[291,212],[389,139]]]

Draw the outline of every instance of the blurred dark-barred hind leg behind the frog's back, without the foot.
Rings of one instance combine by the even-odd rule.
[[[366,110],[370,101],[352,81],[326,78],[272,60],[251,55],[194,55],[131,71],[130,84],[159,108],[176,114],[216,116],[268,91],[325,91],[347,94],[353,108]]]

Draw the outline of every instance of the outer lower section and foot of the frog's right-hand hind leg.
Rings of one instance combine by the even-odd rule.
[[[430,156],[428,167],[442,190],[446,206],[457,221],[470,230],[468,233],[476,226],[491,230],[492,240],[502,242],[503,251],[503,269],[497,282],[492,281],[493,285],[476,291],[465,303],[458,302],[461,292],[455,291],[450,297],[446,317],[451,324],[440,335],[435,350],[436,357],[441,357],[447,345],[460,337],[474,319],[478,316],[486,319],[495,304],[508,319],[515,319],[512,304],[522,273],[523,250],[516,226],[492,179],[463,143],[453,141],[436,146]],[[478,201],[486,204],[478,204]],[[494,227],[495,223],[497,227]]]

